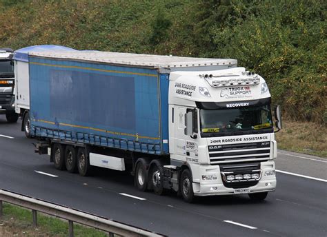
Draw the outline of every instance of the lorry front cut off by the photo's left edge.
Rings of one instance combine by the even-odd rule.
[[[14,112],[14,61],[10,48],[0,48],[0,114],[6,114],[8,123],[16,123]]]

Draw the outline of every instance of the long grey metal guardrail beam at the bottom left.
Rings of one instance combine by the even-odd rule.
[[[80,212],[75,209],[47,203],[43,200],[37,200],[28,196],[14,194],[12,192],[0,189],[0,203],[2,204],[2,202],[19,205],[27,209],[32,209],[35,212],[42,212],[50,216],[66,219],[72,223],[75,222],[81,225],[87,225],[89,227],[101,229],[107,233],[113,233],[119,236],[162,236],[145,229],[139,229],[130,225],[117,223],[113,220],[108,220],[106,218],[94,216],[85,212]]]

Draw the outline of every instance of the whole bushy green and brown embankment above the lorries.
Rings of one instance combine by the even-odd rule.
[[[326,123],[324,0],[0,0],[0,45],[237,59],[290,118]]]

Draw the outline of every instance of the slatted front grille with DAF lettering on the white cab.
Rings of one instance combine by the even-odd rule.
[[[267,161],[270,156],[270,142],[209,145],[210,164],[245,161]]]

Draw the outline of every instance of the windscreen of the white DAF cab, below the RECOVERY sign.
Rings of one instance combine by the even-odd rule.
[[[200,110],[201,136],[231,136],[273,131],[270,105]]]

